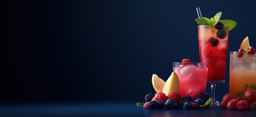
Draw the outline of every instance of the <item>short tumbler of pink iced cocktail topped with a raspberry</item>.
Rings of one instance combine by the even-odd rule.
[[[179,94],[181,97],[199,98],[205,92],[208,67],[204,63],[173,63],[173,72],[179,77]]]

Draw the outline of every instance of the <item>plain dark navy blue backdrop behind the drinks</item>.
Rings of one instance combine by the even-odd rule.
[[[5,0],[1,3],[0,100],[143,100],[172,62],[199,62],[197,12],[238,24],[229,52],[256,44],[253,1]],[[207,85],[207,92],[210,93]]]

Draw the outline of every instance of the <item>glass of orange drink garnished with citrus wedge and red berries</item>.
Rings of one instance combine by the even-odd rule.
[[[247,37],[238,52],[230,52],[230,93],[243,97],[248,88],[256,89],[256,54]]]

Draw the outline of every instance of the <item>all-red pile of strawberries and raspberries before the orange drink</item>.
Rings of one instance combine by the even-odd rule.
[[[253,89],[247,89],[244,92],[243,98],[236,97],[232,94],[226,94],[221,101],[221,108],[227,108],[228,110],[247,111],[251,107],[251,103],[256,101],[256,91]]]

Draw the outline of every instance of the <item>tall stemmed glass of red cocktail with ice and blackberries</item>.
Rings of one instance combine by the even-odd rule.
[[[202,15],[201,15],[202,17]],[[200,62],[208,67],[207,82],[211,86],[211,105],[220,105],[215,100],[215,87],[219,82],[225,82],[229,27],[224,27],[225,37],[218,37],[215,26],[199,25],[198,41]]]

